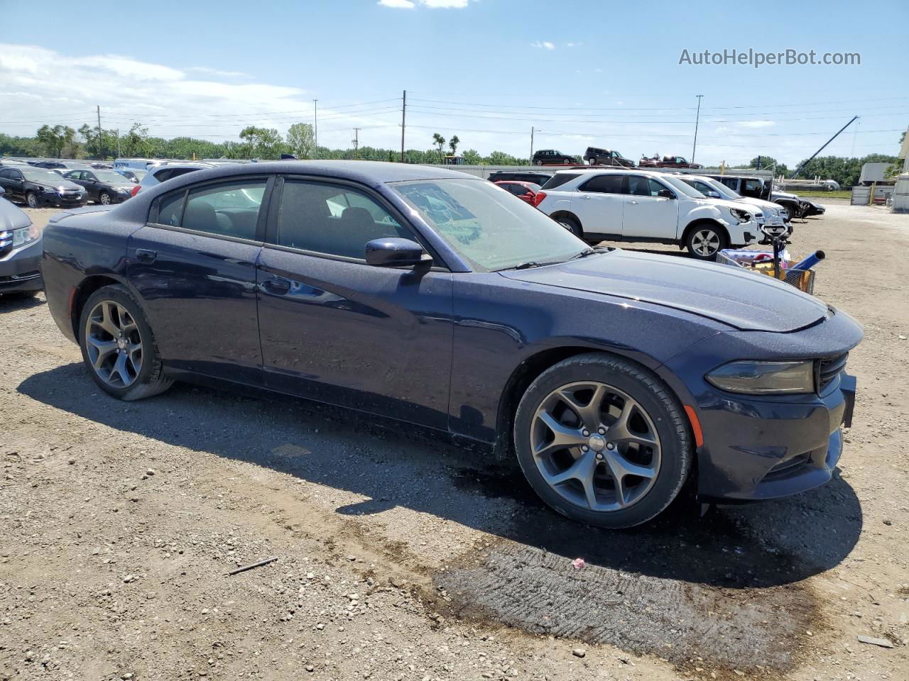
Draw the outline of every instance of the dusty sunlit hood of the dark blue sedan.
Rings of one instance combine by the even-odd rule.
[[[670,255],[616,250],[500,273],[514,281],[664,305],[743,331],[796,331],[827,314],[823,302],[764,274]]]

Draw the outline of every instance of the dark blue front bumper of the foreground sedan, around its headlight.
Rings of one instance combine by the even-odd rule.
[[[829,480],[843,451],[841,427],[852,420],[855,381],[844,373],[818,393],[743,395],[704,376],[724,361],[758,357],[834,358],[861,341],[861,327],[832,311],[801,331],[728,331],[695,343],[665,363],[662,375],[697,416],[698,496],[736,503],[780,498]]]

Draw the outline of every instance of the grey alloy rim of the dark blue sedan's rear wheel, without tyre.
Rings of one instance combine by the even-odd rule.
[[[85,350],[98,377],[114,388],[128,388],[142,370],[139,327],[116,301],[100,301],[88,315]]]

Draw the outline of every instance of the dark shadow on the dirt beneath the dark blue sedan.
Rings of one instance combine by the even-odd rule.
[[[365,497],[338,513],[413,508],[547,554],[637,575],[726,588],[791,584],[838,565],[862,530],[859,500],[839,475],[793,498],[715,508],[703,518],[683,496],[643,527],[609,531],[544,507],[508,462],[348,410],[180,383],[158,398],[125,403],[98,390],[78,363],[37,373],[18,390],[113,429]]]

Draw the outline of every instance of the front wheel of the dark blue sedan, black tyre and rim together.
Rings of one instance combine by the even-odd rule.
[[[514,419],[524,476],[552,508],[603,528],[654,518],[692,459],[683,410],[650,371],[592,352],[545,370]]]

